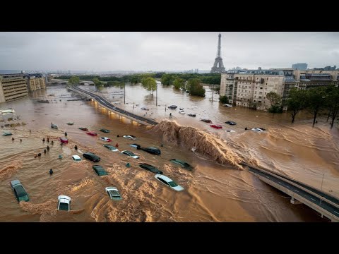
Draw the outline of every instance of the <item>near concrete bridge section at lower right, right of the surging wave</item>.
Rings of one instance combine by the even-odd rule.
[[[307,186],[304,183],[290,179],[287,176],[273,173],[267,169],[259,169],[243,163],[249,171],[258,176],[261,181],[277,188],[283,193],[290,195],[292,204],[301,204],[311,207],[316,212],[331,219],[331,222],[339,222],[339,199],[323,193],[316,188]]]

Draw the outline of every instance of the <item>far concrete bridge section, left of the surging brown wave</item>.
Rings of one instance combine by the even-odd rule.
[[[124,116],[127,119],[131,119],[132,121],[136,121],[137,123],[143,124],[145,126],[156,126],[157,122],[153,121],[151,119],[147,119],[143,116],[138,116],[136,114],[132,114],[129,111],[126,111],[124,109],[119,109],[118,107],[112,105],[110,102],[107,101],[107,99],[101,97],[100,95],[95,95],[93,92],[88,92],[85,90],[82,90],[79,87],[72,86],[69,87],[70,90],[73,92],[77,92],[85,97],[89,97],[91,99],[94,99],[98,104],[100,104],[101,107],[107,109],[108,111],[112,111],[114,113],[119,114],[120,116]]]

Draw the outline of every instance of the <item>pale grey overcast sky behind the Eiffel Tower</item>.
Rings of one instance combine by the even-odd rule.
[[[339,66],[339,32],[221,32],[225,68]],[[209,70],[218,32],[0,32],[0,69]]]

